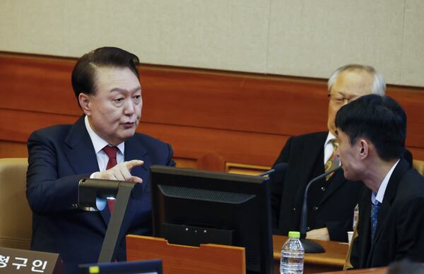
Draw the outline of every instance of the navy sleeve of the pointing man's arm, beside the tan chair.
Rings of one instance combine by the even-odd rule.
[[[58,178],[57,152],[47,136],[35,131],[28,139],[26,195],[31,209],[38,214],[72,210],[78,203],[78,181],[90,174]]]

